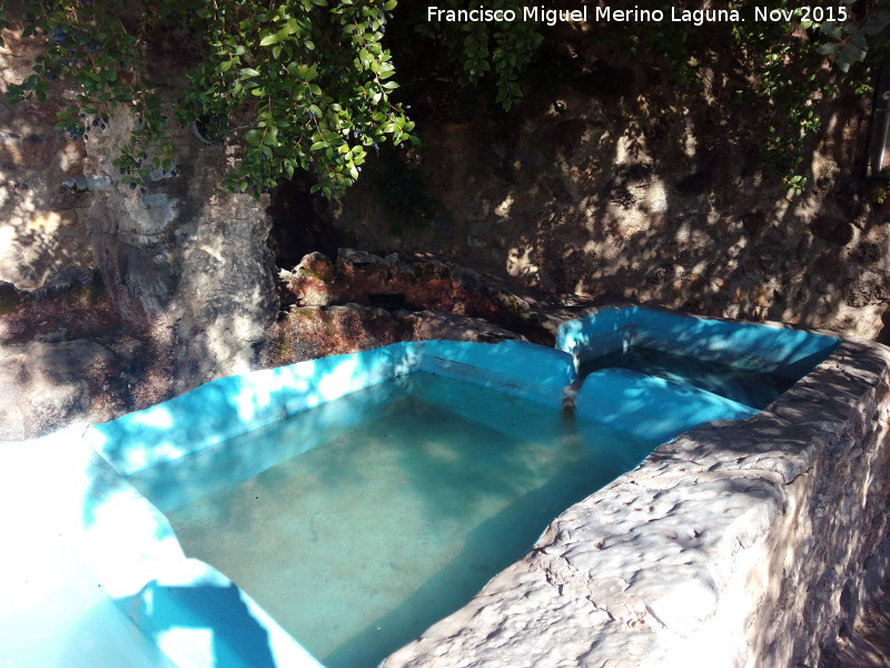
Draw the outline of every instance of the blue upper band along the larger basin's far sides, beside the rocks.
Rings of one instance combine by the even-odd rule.
[[[547,405],[558,405],[575,377],[568,355],[525,342],[394,343],[211,381],[90,426],[85,440],[130,475],[418,369]]]

